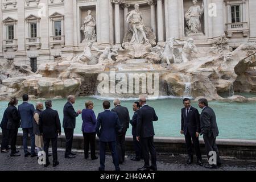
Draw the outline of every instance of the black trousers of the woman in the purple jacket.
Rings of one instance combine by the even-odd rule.
[[[84,136],[84,157],[88,158],[89,155],[89,144],[90,144],[90,157],[95,158],[95,138],[96,132],[94,133],[82,133]]]

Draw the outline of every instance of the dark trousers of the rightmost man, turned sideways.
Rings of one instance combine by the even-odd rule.
[[[205,144],[205,151],[207,152],[207,157],[209,159],[209,152],[215,151],[217,156],[217,164],[221,164],[220,155],[218,154],[218,147],[216,145],[216,138],[211,135],[210,137],[207,134],[203,135],[204,138],[204,144]]]

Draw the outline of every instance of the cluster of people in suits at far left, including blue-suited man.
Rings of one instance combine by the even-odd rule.
[[[35,108],[32,104],[28,103],[28,95],[24,94],[22,96],[23,103],[18,106],[17,98],[11,98],[7,109],[3,114],[3,119],[1,122],[1,128],[3,131],[3,139],[1,144],[1,152],[8,152],[9,141],[11,145],[11,156],[20,156],[19,151],[16,150],[16,137],[18,134],[19,127],[23,131],[23,150],[24,156],[35,157],[38,154],[35,151],[35,134],[33,130],[34,125],[34,112]],[[27,140],[28,134],[31,140],[31,152],[28,152]]]

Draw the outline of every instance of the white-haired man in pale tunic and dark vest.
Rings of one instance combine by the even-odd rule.
[[[35,134],[35,146],[38,152],[42,151],[44,146],[43,135],[42,133],[40,133],[40,130],[39,130],[39,115],[40,113],[42,113],[43,109],[44,109],[43,103],[36,102],[36,109],[33,114],[33,118],[34,118],[33,130]]]

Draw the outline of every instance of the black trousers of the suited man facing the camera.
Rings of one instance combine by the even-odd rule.
[[[186,147],[187,147],[188,155],[191,156],[191,158],[193,158],[191,139],[193,141],[193,146],[195,148],[196,157],[197,157],[197,159],[201,160],[202,156],[201,156],[201,151],[200,151],[199,137],[196,137],[196,133],[191,135],[187,131],[187,134],[185,134],[185,142],[186,142]]]

